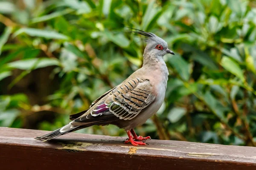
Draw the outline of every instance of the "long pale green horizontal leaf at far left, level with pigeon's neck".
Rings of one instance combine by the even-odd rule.
[[[31,70],[37,68],[44,68],[51,65],[59,65],[57,59],[49,58],[33,58],[33,59],[23,59],[15,62],[10,62],[7,65],[11,68],[18,68],[21,70]]]

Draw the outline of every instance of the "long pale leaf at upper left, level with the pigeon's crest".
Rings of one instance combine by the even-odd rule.
[[[68,40],[69,37],[66,35],[60,34],[55,31],[49,31],[49,30],[42,30],[42,29],[36,29],[36,28],[20,28],[18,31],[16,31],[13,36],[16,37],[20,34],[28,34],[32,37],[43,37],[47,39],[57,39],[57,40]]]

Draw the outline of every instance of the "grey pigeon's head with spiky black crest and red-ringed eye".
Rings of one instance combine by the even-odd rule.
[[[137,31],[132,32],[146,36],[147,45],[145,47],[144,55],[149,54],[160,57],[163,57],[165,54],[175,55],[173,51],[168,49],[167,42],[162,38],[156,36],[151,32],[145,32],[138,29],[136,30]]]

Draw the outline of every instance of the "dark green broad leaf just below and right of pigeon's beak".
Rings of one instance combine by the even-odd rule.
[[[168,57],[169,63],[172,65],[173,68],[177,71],[180,77],[188,81],[189,80],[189,63],[187,63],[182,57],[178,55],[172,55]]]

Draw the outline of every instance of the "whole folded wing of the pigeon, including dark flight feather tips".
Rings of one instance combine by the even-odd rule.
[[[84,113],[73,120],[71,125],[99,125],[118,119],[131,120],[154,101],[153,91],[148,79],[131,79],[109,91],[89,109],[90,113]]]

